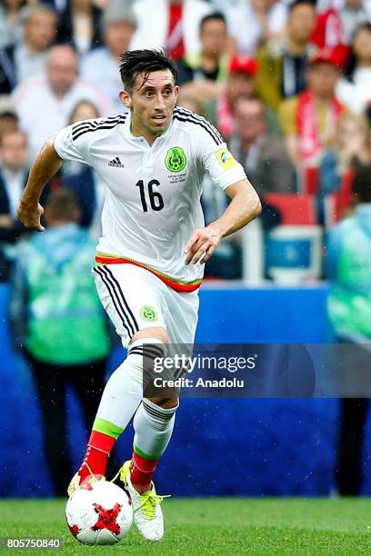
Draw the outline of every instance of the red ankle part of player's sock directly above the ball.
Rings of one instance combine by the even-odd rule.
[[[78,470],[78,474],[81,477],[80,482],[85,481],[85,478],[91,472],[94,475],[105,475],[108,456],[115,446],[115,442],[115,438],[108,436],[108,434],[92,431],[86,448],[84,462]]]

